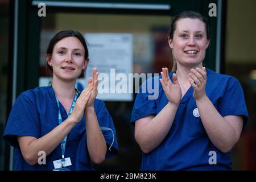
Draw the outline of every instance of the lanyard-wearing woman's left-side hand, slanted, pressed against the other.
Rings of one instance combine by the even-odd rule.
[[[85,105],[87,104],[90,95],[92,94],[93,83],[90,83],[84,90],[82,90],[79,98],[77,98],[76,105],[70,117],[72,121],[79,123],[84,115]]]

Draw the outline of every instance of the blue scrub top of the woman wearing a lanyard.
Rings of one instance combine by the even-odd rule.
[[[118,154],[118,144],[115,134],[115,127],[104,102],[95,100],[94,109],[98,118],[100,127],[108,127],[113,130],[102,131],[108,150],[106,158]],[[58,107],[55,93],[52,86],[42,86],[33,90],[27,90],[20,94],[16,99],[13,109],[9,115],[5,129],[4,139],[15,148],[14,151],[14,170],[52,170],[53,161],[61,159],[60,144],[46,156],[46,164],[35,164],[30,166],[24,160],[20,151],[17,136],[31,136],[40,138],[52,131],[57,125]],[[60,113],[63,121],[68,115],[63,105],[60,103]],[[109,149],[114,139],[113,146]],[[77,123],[70,131],[65,148],[65,158],[71,158],[71,170],[94,170],[90,165],[90,158],[86,143],[85,117]]]

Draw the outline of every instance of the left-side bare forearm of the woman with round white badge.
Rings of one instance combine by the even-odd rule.
[[[172,105],[168,102],[160,113],[135,133],[135,139],[143,152],[151,152],[166,138],[174,122],[177,107],[178,105]]]

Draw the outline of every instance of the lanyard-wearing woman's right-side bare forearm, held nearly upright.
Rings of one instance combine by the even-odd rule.
[[[106,140],[101,132],[100,125],[94,108],[85,109],[86,118],[86,140],[90,159],[99,164],[105,159],[106,155]]]

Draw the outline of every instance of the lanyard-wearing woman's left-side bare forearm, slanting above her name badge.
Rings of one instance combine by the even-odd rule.
[[[26,147],[24,158],[32,165],[36,164],[39,158],[38,152],[44,151],[46,152],[46,156],[51,154],[75,125],[75,122],[73,122],[71,118],[67,118],[48,134],[39,139],[32,140]]]

